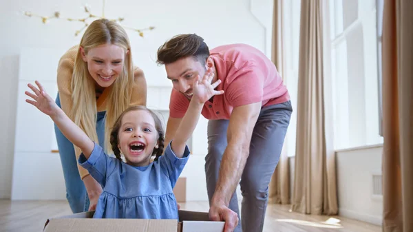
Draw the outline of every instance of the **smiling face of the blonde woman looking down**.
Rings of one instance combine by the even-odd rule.
[[[87,63],[87,70],[96,84],[109,87],[123,72],[125,50],[114,44],[98,45],[91,48],[87,54],[81,47],[82,59]]]

